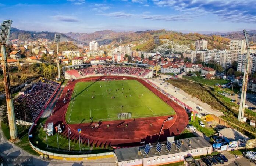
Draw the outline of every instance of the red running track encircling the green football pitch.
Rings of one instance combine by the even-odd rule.
[[[67,122],[65,121],[65,114],[67,112],[68,103],[70,101],[75,84],[77,82],[85,82],[91,80],[95,81],[102,78],[116,80],[122,80],[123,78],[135,79],[138,82],[142,83],[144,86],[146,86],[149,90],[151,90],[154,94],[156,94],[164,101],[167,100],[167,104],[173,107],[176,115],[173,116],[173,120],[164,123],[164,128],[160,135],[160,141],[166,141],[166,137],[178,135],[185,129],[186,125],[188,124],[188,114],[180,105],[178,105],[176,102],[170,101],[170,99],[166,95],[158,91],[156,88],[152,87],[144,80],[125,76],[98,76],[68,82],[67,86],[65,86],[63,90],[63,94],[68,93],[68,97],[66,97],[67,102],[63,103],[63,99],[65,98],[65,96],[62,95],[58,99],[58,103],[56,103],[56,108],[53,115],[47,119],[46,124],[49,122],[53,122],[54,126],[57,126],[58,124],[64,123],[65,128],[63,130],[63,135],[68,136],[68,128],[70,128],[71,140],[78,139],[77,129],[81,128],[82,131],[80,133],[80,138],[89,139],[90,145],[95,144],[95,146],[100,147],[106,145],[108,145],[109,147],[135,146],[142,141],[145,141],[145,143],[156,142],[159,137],[159,132],[163,121],[170,116],[136,118],[135,121],[133,119],[129,119],[103,122],[94,121],[91,123],[82,124],[67,124]],[[70,90],[69,92],[67,92],[68,89]],[[100,127],[92,129],[92,126],[95,126],[95,124],[97,123],[100,124]],[[150,125],[150,123],[152,123],[152,126]],[[126,127],[126,124],[128,124],[128,127]],[[107,128],[107,125],[109,125],[109,128]],[[118,125],[119,127],[117,127]]]

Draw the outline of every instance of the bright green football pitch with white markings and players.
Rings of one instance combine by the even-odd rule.
[[[175,111],[136,80],[78,82],[65,115],[70,124],[174,115]]]

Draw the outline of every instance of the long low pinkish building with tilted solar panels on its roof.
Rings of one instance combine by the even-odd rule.
[[[211,154],[212,145],[203,137],[179,139],[175,143],[169,141],[143,147],[115,149],[119,166],[152,166],[184,161],[186,156]]]

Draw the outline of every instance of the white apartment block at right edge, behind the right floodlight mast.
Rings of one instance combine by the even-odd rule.
[[[245,72],[246,67],[246,55],[238,55],[237,59],[237,71]],[[256,71],[256,54],[250,54],[250,62],[249,62],[249,73],[255,73]]]

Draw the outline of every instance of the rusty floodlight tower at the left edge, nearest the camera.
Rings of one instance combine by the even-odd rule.
[[[5,20],[1,23],[0,26],[0,44],[1,44],[1,52],[2,52],[2,66],[3,66],[3,75],[4,75],[4,88],[6,91],[6,106],[9,120],[9,128],[10,128],[10,141],[14,142],[17,139],[17,126],[15,120],[13,99],[11,98],[11,84],[10,77],[6,59],[6,47],[5,45],[9,43],[9,36],[11,31],[11,23],[12,20]]]

